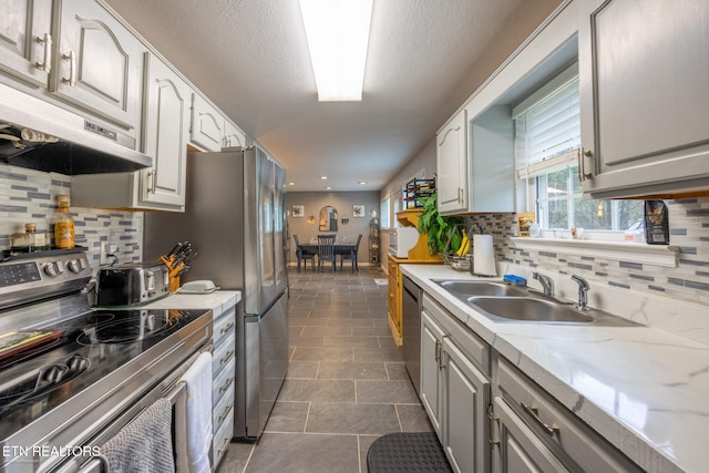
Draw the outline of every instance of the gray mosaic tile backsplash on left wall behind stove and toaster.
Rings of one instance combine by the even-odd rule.
[[[70,195],[71,177],[0,164],[0,249],[10,248],[10,235],[35,223],[38,230],[52,228],[56,196]],[[89,261],[97,269],[101,243],[119,246],[119,263],[141,259],[143,213],[71,206],[76,245],[88,248]]]

